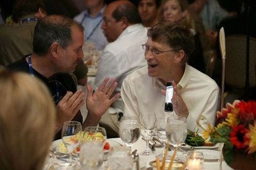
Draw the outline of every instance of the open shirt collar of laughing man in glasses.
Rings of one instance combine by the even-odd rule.
[[[183,89],[187,85],[188,81],[189,81],[189,66],[186,63],[184,74],[183,74],[180,82],[177,84],[177,88],[179,90]],[[152,87],[153,88],[155,87],[155,88],[158,88],[158,89],[164,89],[164,90],[166,88],[163,85],[163,83],[158,78],[155,78],[155,77],[152,78]]]

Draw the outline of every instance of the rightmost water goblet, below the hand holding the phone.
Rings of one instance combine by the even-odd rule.
[[[175,150],[183,143],[187,136],[186,118],[181,116],[172,116],[167,118],[166,137],[174,146]]]

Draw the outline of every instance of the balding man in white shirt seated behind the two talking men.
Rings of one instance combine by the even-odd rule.
[[[134,70],[146,65],[141,57],[144,53],[141,44],[146,41],[147,29],[140,22],[136,6],[129,1],[115,1],[106,7],[101,29],[110,43],[105,46],[99,60],[95,89],[105,77],[113,77],[118,83],[114,93],[119,93],[123,79]],[[122,111],[123,102],[119,98],[99,122],[112,137],[118,137],[118,119]]]

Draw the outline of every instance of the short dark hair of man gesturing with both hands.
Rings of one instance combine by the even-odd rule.
[[[54,42],[66,48],[72,41],[72,27],[83,31],[83,27],[78,22],[66,16],[49,15],[41,19],[34,30],[33,52],[45,55]]]

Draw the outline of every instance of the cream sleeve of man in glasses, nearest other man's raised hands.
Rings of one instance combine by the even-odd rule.
[[[138,99],[132,83],[124,79],[121,87],[121,97],[123,100],[123,115],[139,117]]]

